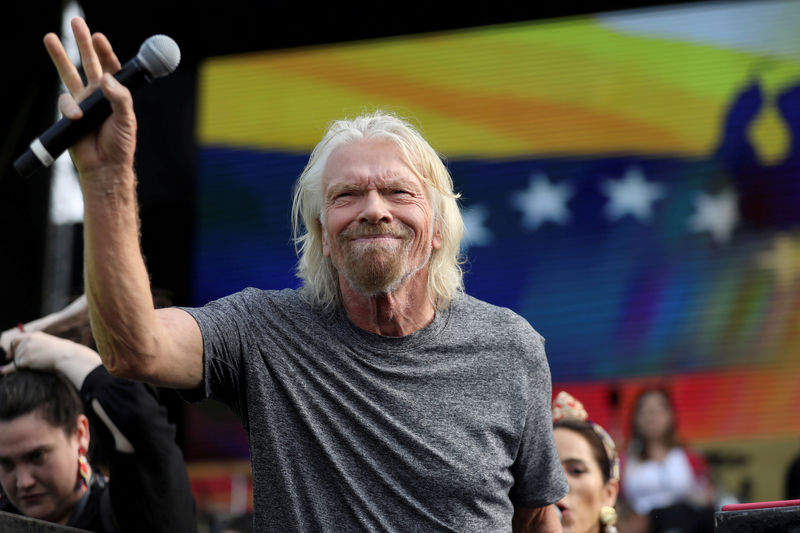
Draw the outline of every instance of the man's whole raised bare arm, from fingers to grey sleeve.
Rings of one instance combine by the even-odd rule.
[[[195,387],[203,372],[199,327],[184,311],[155,310],[139,246],[136,117],[130,91],[111,76],[120,63],[108,39],[92,35],[80,18],[72,20],[72,30],[86,85],[58,37],[50,33],[44,39],[70,93],[59,99],[61,112],[79,120],[83,112],[76,102],[98,86],[112,109],[97,131],[70,149],[83,191],[85,286],[98,351],[118,376]]]

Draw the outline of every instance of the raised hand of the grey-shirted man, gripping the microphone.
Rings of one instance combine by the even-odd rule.
[[[115,169],[132,168],[136,149],[136,116],[130,91],[112,76],[121,65],[111,43],[102,33],[92,34],[82,18],[72,19],[71,24],[86,75],[85,84],[58,36],[48,33],[44,37],[50,59],[69,91],[59,97],[59,110],[65,117],[79,120],[83,111],[78,107],[78,102],[98,87],[102,88],[112,110],[111,116],[98,130],[90,132],[70,148],[83,183],[87,176],[97,171],[107,170],[110,171],[108,175],[113,176]]]

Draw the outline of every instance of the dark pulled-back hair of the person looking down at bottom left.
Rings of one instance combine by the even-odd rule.
[[[20,369],[0,379],[0,420],[38,411],[51,426],[75,433],[83,402],[78,391],[56,372]]]

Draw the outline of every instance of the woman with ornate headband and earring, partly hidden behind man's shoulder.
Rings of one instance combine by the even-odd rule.
[[[553,402],[553,434],[569,481],[556,506],[564,533],[616,533],[619,458],[614,441],[562,391]]]

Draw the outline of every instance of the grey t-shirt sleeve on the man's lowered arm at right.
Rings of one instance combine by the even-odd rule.
[[[515,506],[527,508],[555,503],[569,490],[553,438],[550,368],[543,339],[535,335],[536,349],[528,382],[530,401],[519,452],[511,467],[514,485],[509,494]]]

